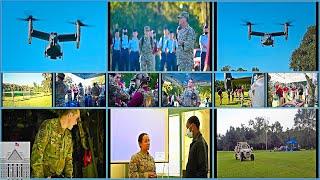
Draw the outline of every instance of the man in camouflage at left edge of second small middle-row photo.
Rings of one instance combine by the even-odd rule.
[[[63,73],[58,73],[56,81],[56,106],[64,107],[65,106],[65,96],[68,91],[67,85],[63,82],[65,75]]]

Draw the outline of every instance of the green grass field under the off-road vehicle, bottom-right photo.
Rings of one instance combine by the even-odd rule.
[[[240,162],[230,151],[217,152],[218,178],[315,178],[316,150],[255,151],[255,160]]]

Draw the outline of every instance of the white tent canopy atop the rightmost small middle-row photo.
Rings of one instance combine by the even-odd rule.
[[[316,79],[315,73],[271,73],[270,81],[279,83],[294,83],[307,81],[305,74],[307,74],[311,79]]]

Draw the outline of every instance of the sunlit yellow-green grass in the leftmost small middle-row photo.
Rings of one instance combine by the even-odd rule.
[[[14,98],[14,103],[11,97],[3,98],[3,107],[51,107],[52,96],[32,97],[23,99],[22,96]]]

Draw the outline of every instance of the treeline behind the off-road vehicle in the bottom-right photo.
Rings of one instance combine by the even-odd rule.
[[[226,134],[218,134],[217,149],[233,151],[237,142],[246,141],[255,150],[265,150],[266,144],[268,150],[273,150],[285,146],[292,138],[297,140],[302,149],[316,148],[316,111],[299,109],[292,121],[294,126],[285,130],[279,121],[269,124],[264,117],[251,119],[241,127],[231,126]]]

